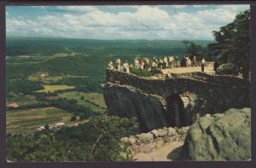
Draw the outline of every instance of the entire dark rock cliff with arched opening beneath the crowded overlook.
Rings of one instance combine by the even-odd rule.
[[[166,79],[107,70],[103,87],[108,113],[136,117],[143,132],[191,125],[196,116],[249,107],[250,84],[231,76],[193,73]]]

